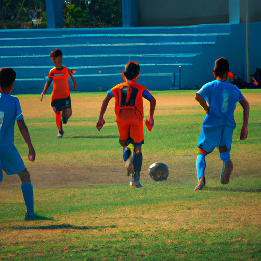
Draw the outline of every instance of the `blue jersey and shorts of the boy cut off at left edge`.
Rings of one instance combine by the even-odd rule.
[[[23,160],[14,146],[14,124],[23,119],[19,99],[10,94],[0,93],[0,182],[2,169],[8,175],[25,169]]]

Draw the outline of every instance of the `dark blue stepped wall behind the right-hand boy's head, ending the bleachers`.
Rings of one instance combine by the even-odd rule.
[[[231,72],[236,73],[241,79],[246,79],[245,46],[245,24],[231,25],[230,35],[218,36],[215,45],[204,45],[202,53],[194,58],[193,66],[182,67],[182,82],[184,85],[196,84],[202,87],[205,83],[213,81],[212,70],[215,60],[220,57],[228,60]],[[261,64],[261,60],[255,58],[250,60],[251,65]]]

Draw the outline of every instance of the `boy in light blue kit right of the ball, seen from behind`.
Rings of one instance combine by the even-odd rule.
[[[247,138],[247,124],[249,117],[249,103],[242,95],[239,88],[226,82],[229,72],[228,61],[221,57],[215,62],[213,75],[216,80],[205,84],[197,93],[196,100],[206,111],[202,129],[199,135],[196,157],[196,174],[198,184],[196,190],[205,188],[205,156],[216,147],[219,148],[220,159],[223,161],[221,184],[228,184],[233,162],[230,159],[233,131],[236,127],[234,110],[237,102],[244,110],[243,126],[240,139]]]

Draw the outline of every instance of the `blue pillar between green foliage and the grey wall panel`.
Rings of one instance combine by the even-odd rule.
[[[122,0],[122,27],[139,26],[139,0]]]

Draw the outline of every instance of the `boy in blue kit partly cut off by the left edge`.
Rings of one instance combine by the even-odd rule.
[[[0,182],[3,179],[2,170],[7,175],[18,174],[21,179],[21,189],[27,213],[25,220],[35,220],[39,217],[34,213],[33,185],[30,174],[24,166],[23,160],[14,146],[14,124],[17,121],[20,132],[28,145],[30,161],[35,160],[35,150],[25,125],[20,102],[11,96],[16,73],[11,68],[0,69]]]

